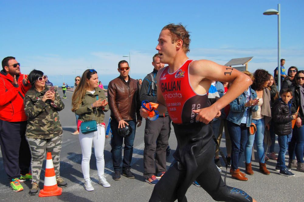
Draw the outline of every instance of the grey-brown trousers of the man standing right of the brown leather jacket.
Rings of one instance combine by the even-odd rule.
[[[154,121],[146,119],[143,152],[143,177],[146,179],[155,173],[167,170],[166,148],[168,147],[169,128],[169,116],[160,116]]]

